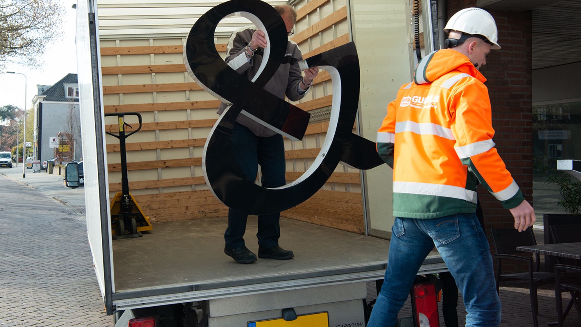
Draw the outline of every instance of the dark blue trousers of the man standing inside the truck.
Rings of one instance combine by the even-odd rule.
[[[256,179],[258,165],[260,165],[263,187],[279,187],[286,184],[285,146],[280,134],[259,137],[247,127],[236,122],[232,129],[232,147],[236,162],[246,178]],[[278,239],[281,236],[280,215],[280,213],[276,213],[258,216],[256,237],[259,246],[278,245]],[[246,231],[247,219],[247,214],[232,209],[228,210],[228,229],[224,233],[227,248],[239,248],[245,245],[243,236]]]

